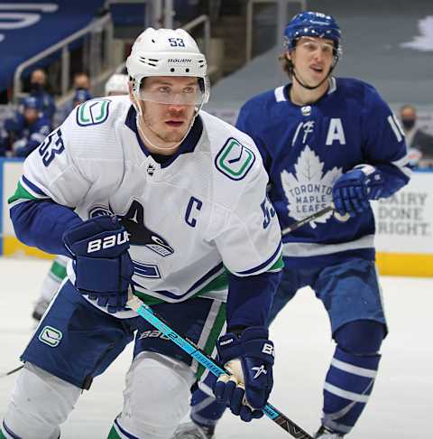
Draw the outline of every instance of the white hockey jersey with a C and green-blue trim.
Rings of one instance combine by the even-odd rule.
[[[268,271],[281,258],[268,175],[253,140],[200,111],[190,135],[158,163],[136,132],[129,97],[76,108],[24,163],[34,199],[74,208],[82,220],[115,214],[130,234],[137,293],[148,303],[196,294],[225,299],[217,282]],[[201,129],[202,126],[202,129]],[[72,266],[68,275],[74,281]],[[92,302],[93,303],[93,302]],[[121,312],[119,317],[133,316]]]

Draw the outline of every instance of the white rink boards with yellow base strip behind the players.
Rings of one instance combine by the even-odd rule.
[[[14,236],[7,199],[21,177],[23,161],[0,158],[0,254],[52,258]],[[377,264],[382,275],[433,277],[433,173],[414,173],[391,198],[374,201]]]

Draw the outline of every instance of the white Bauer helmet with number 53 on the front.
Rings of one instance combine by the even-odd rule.
[[[137,99],[143,99],[140,86],[142,79],[149,76],[197,77],[200,94],[195,105],[201,107],[209,98],[205,55],[183,29],[147,28],[135,40],[126,60],[126,69],[133,80],[133,93]]]

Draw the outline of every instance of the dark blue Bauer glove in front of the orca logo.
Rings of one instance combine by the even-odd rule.
[[[84,221],[63,234],[75,260],[75,286],[81,294],[107,306],[108,313],[124,310],[134,267],[128,253],[129,238],[116,217]]]

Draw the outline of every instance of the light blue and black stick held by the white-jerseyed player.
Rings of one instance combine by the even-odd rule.
[[[143,319],[150,322],[157,330],[161,331],[167,336],[170,341],[176,343],[180,349],[185,350],[194,360],[197,360],[206,369],[209,369],[216,377],[221,375],[230,375],[226,369],[218,366],[215,360],[208,357],[203,351],[199,350],[193,341],[189,341],[188,338],[180,336],[177,332],[174,332],[170,326],[164,322],[158,314],[154,313],[151,307],[143,302],[136,296],[132,297],[127,305],[139,314]],[[313,439],[307,432],[302,430],[299,425],[296,425],[287,416],[283,415],[271,404],[266,404],[263,408],[263,412],[266,416],[270,417],[273,422],[280,425],[281,428],[286,430],[296,439]]]

